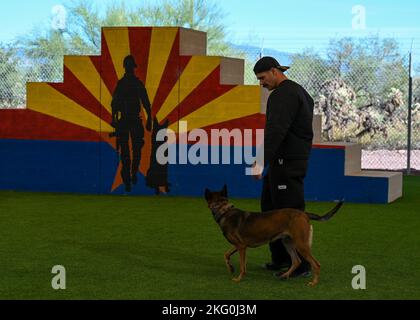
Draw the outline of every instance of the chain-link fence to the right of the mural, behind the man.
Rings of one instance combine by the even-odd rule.
[[[324,141],[360,143],[363,169],[407,170],[408,55],[346,58],[294,54],[286,75],[314,98]],[[246,76],[255,83],[252,73]],[[420,78],[412,101],[410,165],[420,170]]]

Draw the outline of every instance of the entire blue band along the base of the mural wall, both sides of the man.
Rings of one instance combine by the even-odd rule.
[[[191,146],[189,146],[190,148]],[[214,147],[208,147],[210,152]],[[117,154],[107,143],[0,140],[0,189],[111,193],[118,168]],[[231,159],[234,148],[228,149]],[[253,150],[255,152],[255,150]],[[386,178],[345,177],[343,149],[312,150],[305,179],[307,200],[386,203]],[[209,153],[210,154],[210,153]],[[202,196],[205,188],[229,186],[232,197],[259,198],[261,181],[245,175],[244,164],[170,164],[170,195]],[[154,194],[139,181],[131,194]],[[113,194],[124,193],[120,186]]]

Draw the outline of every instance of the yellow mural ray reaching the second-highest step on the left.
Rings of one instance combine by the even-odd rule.
[[[76,76],[86,89],[111,113],[111,94],[101,84],[102,79],[88,56],[65,56],[64,65]]]

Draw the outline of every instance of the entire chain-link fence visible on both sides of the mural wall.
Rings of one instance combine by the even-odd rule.
[[[252,67],[261,53],[254,48],[244,54],[245,83],[257,84]],[[407,169],[408,56],[305,51],[277,58],[314,98],[324,141],[362,144],[363,169]],[[0,108],[24,107],[26,82],[62,81],[62,70],[62,60],[34,65],[15,49],[0,48]],[[411,148],[411,168],[420,170],[419,78],[413,81]]]

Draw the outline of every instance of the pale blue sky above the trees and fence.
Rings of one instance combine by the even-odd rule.
[[[92,0],[99,8],[120,0]],[[125,0],[128,5],[145,1]],[[146,0],[146,2],[152,2]],[[325,49],[343,36],[394,37],[420,63],[420,0],[213,0],[225,14],[228,39],[285,52]],[[0,0],[0,42],[52,23],[67,0]]]

